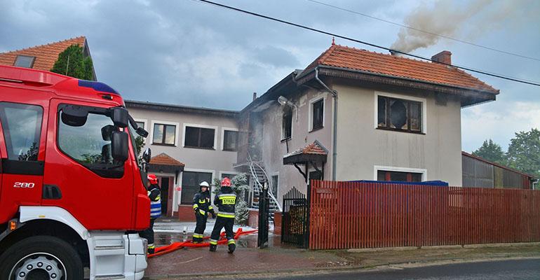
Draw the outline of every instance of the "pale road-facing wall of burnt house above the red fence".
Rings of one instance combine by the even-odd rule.
[[[448,97],[436,104],[433,94],[397,94],[425,100],[425,134],[377,130],[374,90],[334,85],[338,92],[337,180],[374,180],[374,168],[426,172],[424,180],[461,186],[461,106]]]

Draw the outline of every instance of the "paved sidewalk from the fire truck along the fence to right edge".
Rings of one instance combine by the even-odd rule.
[[[426,265],[433,262],[461,262],[505,258],[540,258],[540,245],[478,248],[420,248],[399,251],[308,251],[281,246],[271,237],[269,248],[257,249],[257,235],[241,237],[231,255],[226,246],[216,253],[208,248],[185,248],[149,259],[146,279],[205,278],[218,275],[282,275],[318,273],[329,269],[365,269],[385,265]]]

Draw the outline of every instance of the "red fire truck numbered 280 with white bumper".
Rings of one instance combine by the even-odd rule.
[[[104,83],[0,66],[0,279],[142,279],[135,133]]]

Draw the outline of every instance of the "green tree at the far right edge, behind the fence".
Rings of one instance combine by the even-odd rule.
[[[540,176],[540,130],[517,132],[508,146],[508,164],[527,174]]]

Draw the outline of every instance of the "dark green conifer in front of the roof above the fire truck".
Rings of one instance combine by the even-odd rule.
[[[92,59],[89,56],[84,57],[83,48],[79,45],[70,45],[60,52],[50,71],[83,80],[94,78]]]

